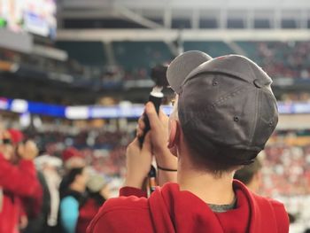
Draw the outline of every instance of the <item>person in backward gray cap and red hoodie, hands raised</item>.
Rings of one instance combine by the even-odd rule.
[[[151,131],[142,149],[137,139],[128,145],[126,187],[120,198],[105,202],[88,232],[288,232],[282,203],[233,180],[236,170],[264,149],[277,124],[270,77],[242,56],[211,59],[189,51],[170,64],[167,79],[177,94],[168,133],[159,130],[148,103]],[[159,138],[167,144],[157,144]],[[177,183],[145,198],[141,189],[152,153],[159,171],[177,174]]]

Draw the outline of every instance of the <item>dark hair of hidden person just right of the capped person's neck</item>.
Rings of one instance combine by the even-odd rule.
[[[246,184],[251,183],[252,178],[257,174],[261,169],[260,159],[254,159],[254,162],[250,165],[242,167],[240,170],[236,171],[234,179]]]

